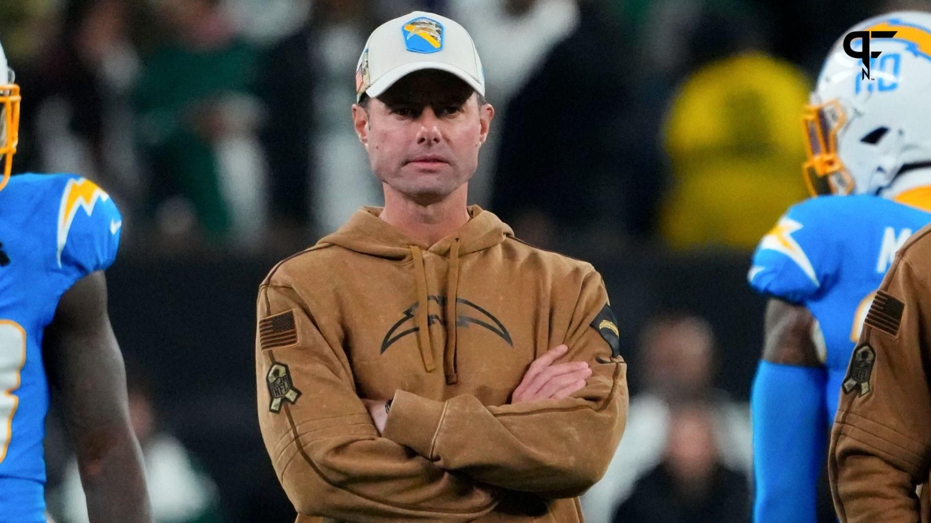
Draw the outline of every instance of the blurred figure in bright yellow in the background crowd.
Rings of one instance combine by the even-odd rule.
[[[664,142],[673,187],[662,233],[673,248],[751,249],[807,191],[799,131],[809,82],[761,52],[717,60],[673,98]]]

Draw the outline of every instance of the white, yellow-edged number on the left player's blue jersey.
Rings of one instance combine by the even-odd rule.
[[[20,388],[20,372],[26,363],[26,330],[20,324],[0,319],[0,463],[7,458],[13,436],[13,414],[20,398],[13,391]]]

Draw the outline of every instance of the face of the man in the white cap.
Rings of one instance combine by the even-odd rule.
[[[468,84],[432,70],[401,78],[368,110],[353,106],[375,176],[421,204],[441,200],[472,177],[493,115]]]

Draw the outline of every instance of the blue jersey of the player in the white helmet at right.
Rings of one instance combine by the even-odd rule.
[[[931,213],[879,196],[819,196],[789,208],[753,254],[750,286],[815,316],[829,423],[876,289],[897,249],[928,222]]]

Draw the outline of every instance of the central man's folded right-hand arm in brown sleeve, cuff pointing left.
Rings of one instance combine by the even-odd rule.
[[[480,483],[553,498],[580,495],[604,474],[627,421],[627,364],[606,304],[592,270],[562,357],[587,361],[592,375],[572,396],[489,407],[475,396],[443,402],[398,391],[384,436]]]

